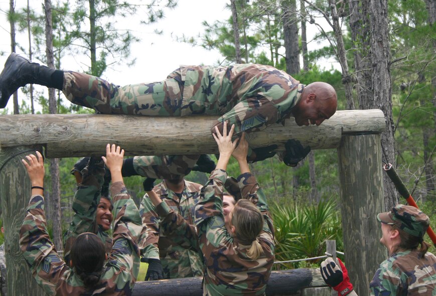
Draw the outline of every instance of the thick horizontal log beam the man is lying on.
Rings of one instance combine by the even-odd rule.
[[[217,153],[210,133],[215,116],[147,117],[105,114],[42,114],[0,116],[0,148],[44,145],[47,157],[103,155],[107,143],[124,148],[126,155]],[[312,149],[339,147],[343,134],[381,133],[381,110],[337,111],[320,126],[299,127],[291,118],[250,133],[251,147],[271,144],[284,150],[291,138]]]

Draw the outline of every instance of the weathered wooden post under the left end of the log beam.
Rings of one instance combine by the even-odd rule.
[[[31,192],[30,180],[21,160],[35,152],[36,148],[18,146],[0,150],[0,196],[5,227],[8,295],[46,295],[34,280],[18,244],[20,227]]]

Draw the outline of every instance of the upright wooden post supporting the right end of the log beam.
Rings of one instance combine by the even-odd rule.
[[[344,136],[338,156],[345,266],[357,294],[369,295],[386,258],[376,217],[384,211],[380,135]]]

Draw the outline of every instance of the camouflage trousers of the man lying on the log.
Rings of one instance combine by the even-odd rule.
[[[73,104],[103,114],[181,116],[194,113],[188,102],[183,101],[179,69],[164,81],[123,87],[88,74],[66,71],[62,91]]]

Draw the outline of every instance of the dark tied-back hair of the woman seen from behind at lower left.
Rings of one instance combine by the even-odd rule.
[[[85,287],[92,287],[100,280],[105,255],[104,244],[94,233],[82,233],[74,240],[70,258]]]

